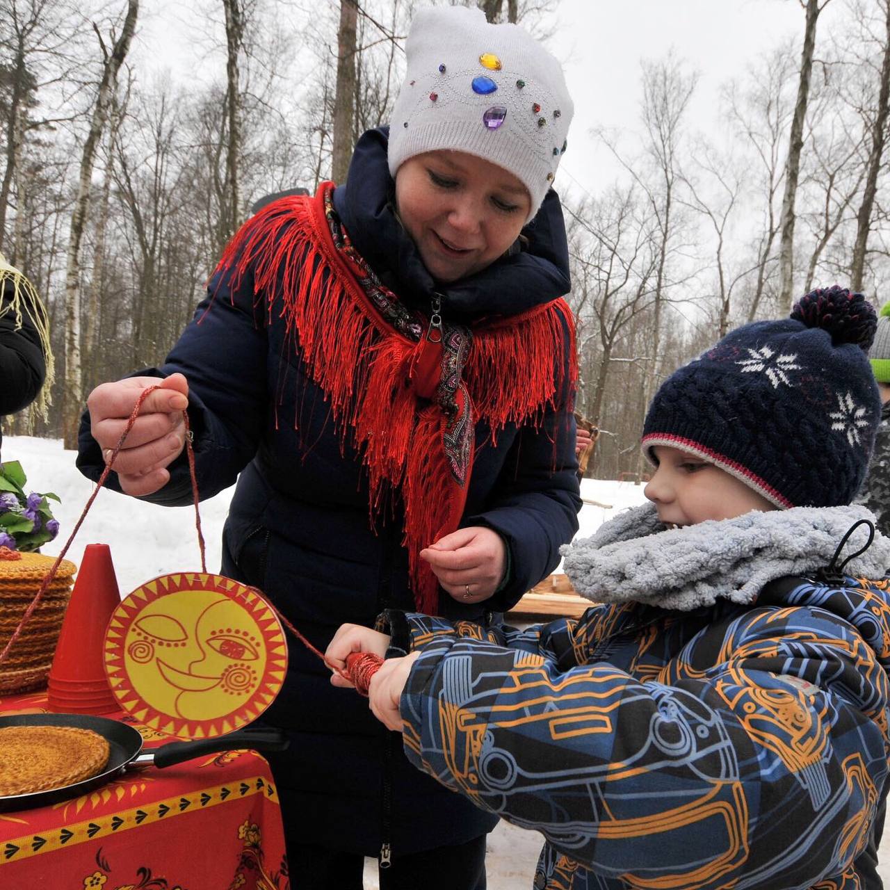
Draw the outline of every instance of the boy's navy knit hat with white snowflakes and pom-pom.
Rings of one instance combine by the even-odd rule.
[[[780,507],[849,504],[880,421],[866,357],[875,327],[865,297],[836,285],[789,319],[731,331],[661,385],[646,457],[656,445],[690,451]]]

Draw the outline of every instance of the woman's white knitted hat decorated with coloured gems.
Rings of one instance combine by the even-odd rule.
[[[392,109],[389,169],[447,149],[504,167],[538,213],[566,149],[574,105],[562,67],[518,25],[464,6],[426,7],[405,44],[408,72]]]

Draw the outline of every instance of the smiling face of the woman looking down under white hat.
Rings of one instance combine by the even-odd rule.
[[[434,279],[494,263],[519,236],[531,198],[514,174],[463,151],[427,151],[395,176],[401,222]]]

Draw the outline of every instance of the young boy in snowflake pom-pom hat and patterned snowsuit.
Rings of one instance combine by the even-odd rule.
[[[890,540],[848,506],[880,416],[874,312],[839,287],[680,368],[651,503],[567,548],[596,605],[526,631],[389,611],[370,706],[409,758],[537,829],[534,886],[881,886]],[[865,521],[865,522],[863,522]],[[852,533],[851,533],[852,532]],[[334,683],[344,680],[334,677]]]

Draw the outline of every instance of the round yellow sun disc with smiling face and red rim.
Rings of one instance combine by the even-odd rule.
[[[287,641],[269,603],[238,581],[162,575],[112,614],[105,672],[120,707],[140,724],[205,739],[271,705],[287,673]]]

